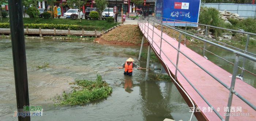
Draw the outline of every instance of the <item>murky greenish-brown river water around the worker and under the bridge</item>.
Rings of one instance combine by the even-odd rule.
[[[123,75],[123,69],[107,68],[120,67],[129,57],[146,67],[145,59],[138,61],[137,56],[124,54],[124,51],[139,51],[140,46],[38,39],[25,42],[30,105],[41,105],[44,109],[43,116],[31,117],[33,121],[163,121],[165,118],[188,121],[191,116],[188,105],[172,82],[145,81],[146,70],[135,69],[129,77]],[[146,51],[147,46],[143,50]],[[221,50],[219,53],[225,55]],[[215,60],[210,55],[208,58]],[[50,67],[37,68],[44,62],[49,62]],[[232,67],[218,65],[227,70]],[[250,62],[248,65],[255,70],[255,65]],[[161,68],[161,64],[151,62],[150,68]],[[149,73],[152,74],[149,78],[153,78],[159,70]],[[52,98],[56,94],[71,90],[69,82],[95,79],[97,74],[113,87],[109,97],[83,105],[53,105]],[[255,77],[246,78],[246,81],[255,87]],[[11,40],[0,39],[0,121],[17,121],[18,118],[12,116],[16,108]],[[193,121],[197,121],[195,116]]]

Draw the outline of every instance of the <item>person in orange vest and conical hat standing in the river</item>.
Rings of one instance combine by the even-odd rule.
[[[140,68],[138,65],[135,65],[134,63],[132,63],[134,60],[132,58],[129,58],[126,60],[126,62],[123,65],[123,68]],[[119,67],[119,69],[121,69],[122,67]],[[125,75],[132,75],[132,69],[124,69],[124,74]]]

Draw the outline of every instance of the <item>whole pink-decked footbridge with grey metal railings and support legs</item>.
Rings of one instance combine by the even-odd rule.
[[[187,31],[184,32],[178,30],[176,27],[167,26],[167,24],[162,21],[164,19],[166,18],[138,20],[138,26],[144,34],[143,40],[146,38],[148,43],[150,43],[148,52],[150,52],[150,48],[152,48],[155,55],[157,55],[182,97],[185,99],[188,106],[191,107],[190,111],[192,116],[194,114],[198,121],[256,121],[256,89],[242,81],[242,75],[236,77],[238,68],[247,71],[244,69],[245,61],[240,62],[243,63],[243,67],[238,66],[239,58],[256,62],[256,58],[251,56],[254,54],[249,53],[251,54],[249,55],[246,51],[248,42],[246,49],[241,52],[241,49],[239,50],[236,47],[227,47],[228,45],[222,46],[221,44],[224,43],[218,44],[218,41],[214,43],[212,42],[214,41],[213,39],[207,38],[206,36],[203,36],[204,39],[202,39],[188,34]],[[206,26],[206,35],[207,27],[211,26]],[[179,35],[173,33],[173,36],[175,35],[179,39],[176,40],[167,35],[167,28],[178,32]],[[234,65],[233,74],[215,65],[205,56],[199,55],[181,44],[182,34],[222,48],[223,51],[229,51],[236,55],[234,63],[222,58],[224,61]],[[247,36],[256,35],[248,32],[244,32],[244,34],[247,34]],[[202,49],[204,52],[207,51],[205,46]],[[218,57],[221,58],[220,56]],[[149,62],[149,56],[147,61]],[[147,74],[148,70],[146,79]]]

